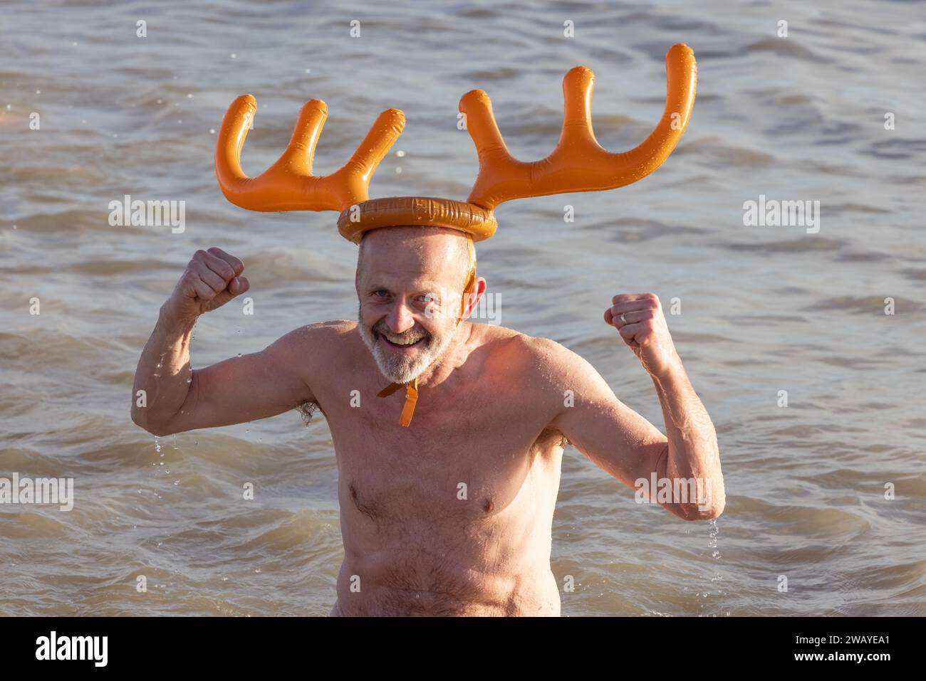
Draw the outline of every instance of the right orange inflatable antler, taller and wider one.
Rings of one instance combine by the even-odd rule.
[[[479,153],[479,175],[469,203],[488,210],[512,199],[566,192],[615,189],[642,180],[672,153],[688,124],[694,105],[697,66],[694,52],[683,43],[666,55],[666,109],[656,130],[623,154],[612,154],[594,139],[592,90],[594,73],[575,67],[563,79],[565,113],[557,148],[541,161],[525,163],[512,157],[492,113],[489,95],[472,90],[459,109]]]

